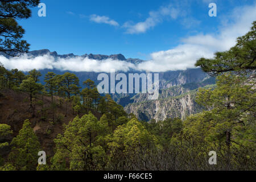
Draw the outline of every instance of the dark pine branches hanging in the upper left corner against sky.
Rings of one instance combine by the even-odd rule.
[[[39,0],[0,0],[0,52],[14,56],[27,52],[29,44],[22,40],[24,30],[16,22],[31,16],[31,7],[38,6]]]

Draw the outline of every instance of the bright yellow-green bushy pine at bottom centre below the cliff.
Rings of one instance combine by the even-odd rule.
[[[158,143],[137,119],[131,119],[125,125],[118,126],[113,135],[109,135],[111,170],[142,170],[149,169],[148,163],[152,150]]]

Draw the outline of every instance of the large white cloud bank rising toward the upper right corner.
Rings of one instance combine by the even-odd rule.
[[[229,21],[216,34],[198,34],[183,39],[183,44],[151,54],[152,59],[138,68],[151,72],[195,68],[201,57],[212,58],[216,51],[226,51],[236,45],[238,36],[245,35],[256,17],[256,6],[244,6],[233,10]],[[226,22],[226,21],[224,21]]]

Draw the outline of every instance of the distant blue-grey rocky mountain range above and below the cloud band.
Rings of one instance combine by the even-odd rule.
[[[42,49],[38,51],[30,51],[27,53],[28,56],[36,57],[43,55],[51,55],[57,58],[74,58],[77,55],[69,53],[67,55],[58,55],[56,51],[51,52],[48,49]],[[4,53],[0,53],[7,58],[9,56]],[[122,54],[117,55],[93,55],[84,54],[79,57],[88,57],[88,59],[95,60],[121,60],[127,61],[133,64],[142,63],[144,60],[140,59],[126,59]],[[55,72],[56,74],[63,74],[66,71],[60,71],[57,69],[43,69],[40,70],[42,78],[47,72]],[[69,71],[71,72],[71,71]],[[96,85],[100,82],[97,81],[99,73],[96,72],[73,72],[79,77],[80,84],[90,78],[95,81]],[[126,72],[134,73],[134,71]],[[136,73],[142,73],[136,71]],[[200,112],[203,108],[196,104],[195,96],[196,91],[200,87],[213,87],[215,79],[204,73],[200,68],[187,69],[185,71],[168,71],[159,73],[159,92],[160,96],[158,100],[148,100],[147,94],[112,94],[112,97],[118,104],[125,107],[127,113],[134,113],[139,119],[149,121],[155,119],[156,121],[163,120],[166,118],[180,117],[185,118],[190,114]]]

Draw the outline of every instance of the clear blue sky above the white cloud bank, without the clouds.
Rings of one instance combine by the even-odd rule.
[[[41,2],[46,4],[46,17],[39,17],[36,7],[32,18],[20,21],[31,50],[47,48],[59,54],[76,55],[122,53],[141,59],[150,59],[152,52],[174,48],[188,36],[214,33],[235,7],[254,4],[254,1],[228,0]],[[209,2],[216,3],[217,17],[208,15]],[[156,15],[153,26],[143,32],[129,32],[127,24],[145,22],[151,17],[150,13],[160,14],[164,8],[171,12]],[[98,22],[93,21],[93,17],[94,20],[98,17]],[[103,18],[102,23],[99,18]],[[104,23],[104,18],[109,20]]]

